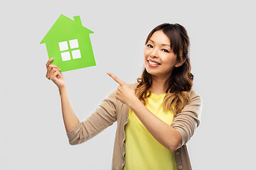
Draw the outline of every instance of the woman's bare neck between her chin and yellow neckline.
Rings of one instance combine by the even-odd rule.
[[[165,82],[167,79],[168,78],[166,77],[155,77],[152,75],[152,84],[149,87],[149,91],[151,91],[153,94],[166,93],[168,86],[165,84]]]

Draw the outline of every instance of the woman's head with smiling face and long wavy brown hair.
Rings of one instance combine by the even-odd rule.
[[[161,24],[149,33],[145,44],[145,69],[142,78],[137,79],[138,98],[144,102],[147,89],[152,93],[166,92],[164,108],[174,111],[174,114],[181,112],[188,103],[193,86],[186,29],[179,24]],[[159,84],[155,85],[155,82],[162,82],[160,87],[163,89],[159,89]]]

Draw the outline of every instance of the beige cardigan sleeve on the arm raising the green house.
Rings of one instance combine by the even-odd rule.
[[[105,128],[112,125],[117,120],[116,103],[115,91],[112,91],[91,115],[78,123],[73,130],[66,133],[70,145],[78,145],[90,140],[105,130]]]

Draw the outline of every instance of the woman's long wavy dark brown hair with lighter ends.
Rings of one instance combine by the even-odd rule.
[[[166,111],[173,111],[174,116],[176,116],[188,103],[193,86],[193,74],[191,74],[191,62],[189,58],[190,42],[187,31],[183,26],[178,23],[163,23],[151,30],[146,38],[145,45],[157,30],[162,30],[170,39],[171,50],[177,56],[177,62],[186,60],[180,67],[174,67],[169,79],[166,80],[168,88],[164,97],[164,109]],[[138,78],[137,82],[139,84],[136,88],[136,95],[146,105],[146,98],[151,95],[150,91],[147,95],[147,90],[152,84],[152,75],[144,69],[142,77]]]

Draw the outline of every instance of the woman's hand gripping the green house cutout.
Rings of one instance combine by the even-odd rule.
[[[54,64],[50,64],[53,62],[53,58],[50,58],[46,63],[46,78],[52,80],[58,86],[58,89],[65,87],[65,80],[63,74],[60,73],[60,68]]]

